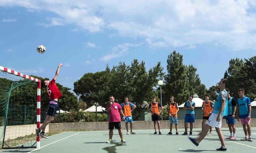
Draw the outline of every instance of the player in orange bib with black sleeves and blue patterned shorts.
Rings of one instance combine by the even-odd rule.
[[[170,97],[170,104],[169,104],[169,115],[170,115],[170,132],[167,135],[172,135],[172,124],[175,124],[175,129],[176,129],[176,135],[179,135],[178,133],[178,111],[179,111],[179,107],[178,107],[178,103],[174,102],[174,97],[171,96]]]

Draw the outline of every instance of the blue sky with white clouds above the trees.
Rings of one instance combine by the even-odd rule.
[[[1,0],[0,65],[73,89],[87,72],[134,58],[166,71],[176,50],[207,88],[232,58],[256,55],[256,1]],[[38,54],[36,47],[46,52]]]

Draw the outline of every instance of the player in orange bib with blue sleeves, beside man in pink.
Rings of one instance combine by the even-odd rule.
[[[123,112],[125,116],[125,128],[127,131],[126,134],[129,135],[128,122],[130,122],[131,134],[135,135],[135,133],[132,130],[132,111],[136,108],[136,106],[128,101],[128,97],[124,97],[124,100],[125,102],[122,103],[120,106],[124,109]]]

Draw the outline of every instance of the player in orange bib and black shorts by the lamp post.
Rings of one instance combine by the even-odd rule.
[[[150,110],[150,107],[151,107],[152,111]],[[161,107],[160,111],[159,111],[158,107]],[[158,125],[159,135],[162,135],[162,133],[160,132],[160,113],[162,112],[163,109],[164,109],[164,107],[160,103],[156,102],[156,98],[153,97],[152,103],[148,106],[148,112],[151,113],[152,121],[154,121],[154,128],[155,128],[154,135],[157,134],[156,122]]]

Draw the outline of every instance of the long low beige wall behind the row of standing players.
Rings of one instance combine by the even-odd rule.
[[[168,120],[160,121],[161,129],[169,129],[170,122]],[[101,131],[108,130],[108,122],[82,122],[82,123],[50,123],[50,131]],[[236,121],[236,127],[243,127],[241,122]],[[251,120],[251,126],[256,127],[256,119]],[[178,127],[184,128],[184,120],[178,120]],[[188,124],[189,127],[189,124]],[[194,128],[201,128],[202,120],[195,120]],[[222,128],[227,128],[226,120],[222,120]],[[122,121],[122,128],[125,129],[125,122]],[[134,129],[154,129],[153,121],[133,121]],[[173,127],[174,128],[174,127]]]

